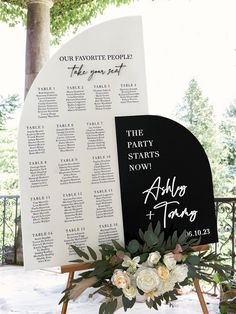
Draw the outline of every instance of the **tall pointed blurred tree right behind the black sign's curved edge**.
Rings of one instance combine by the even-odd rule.
[[[226,154],[219,128],[214,121],[213,106],[204,97],[195,79],[189,82],[183,102],[178,105],[176,116],[204,147],[212,170],[215,197],[224,196]]]

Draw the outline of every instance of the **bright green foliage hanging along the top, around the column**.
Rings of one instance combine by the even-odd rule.
[[[132,0],[57,0],[51,8],[51,34],[58,41],[67,31],[77,31],[109,5],[119,6]],[[9,26],[26,23],[27,1],[0,1],[0,20]]]

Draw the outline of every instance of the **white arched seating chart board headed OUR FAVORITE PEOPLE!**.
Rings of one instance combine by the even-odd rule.
[[[124,241],[114,117],[146,104],[139,17],[79,34],[40,72],[18,139],[26,269],[67,264],[72,244]]]

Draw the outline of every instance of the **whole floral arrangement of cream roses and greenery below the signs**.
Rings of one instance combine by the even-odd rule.
[[[192,247],[199,245],[200,239],[189,238],[186,231],[180,236],[175,231],[165,239],[158,222],[155,228],[150,224],[145,232],[139,230],[139,237],[140,241],[132,240],[126,247],[117,241],[100,245],[99,259],[91,247],[86,253],[72,246],[80,257],[72,262],[92,260],[91,269],[73,280],[60,302],[75,300],[85,289],[94,287],[97,289],[91,297],[95,293],[106,297],[99,314],[112,314],[119,307],[126,311],[141,300],[157,310],[163,301],[176,300],[176,289],[192,278],[208,282],[214,281],[215,274],[227,278],[229,267],[214,253],[194,252]]]

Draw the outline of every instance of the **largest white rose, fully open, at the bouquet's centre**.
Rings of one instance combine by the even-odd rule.
[[[160,283],[157,272],[153,268],[143,268],[137,271],[136,285],[143,292],[156,290]]]

